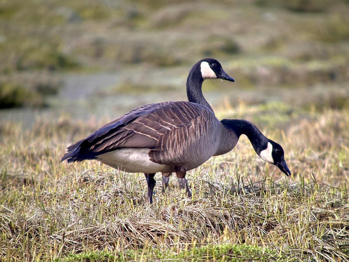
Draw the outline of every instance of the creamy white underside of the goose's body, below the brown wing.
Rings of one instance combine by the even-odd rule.
[[[130,173],[171,172],[168,166],[151,161],[148,155],[149,151],[149,148],[122,148],[98,155],[97,160]]]

